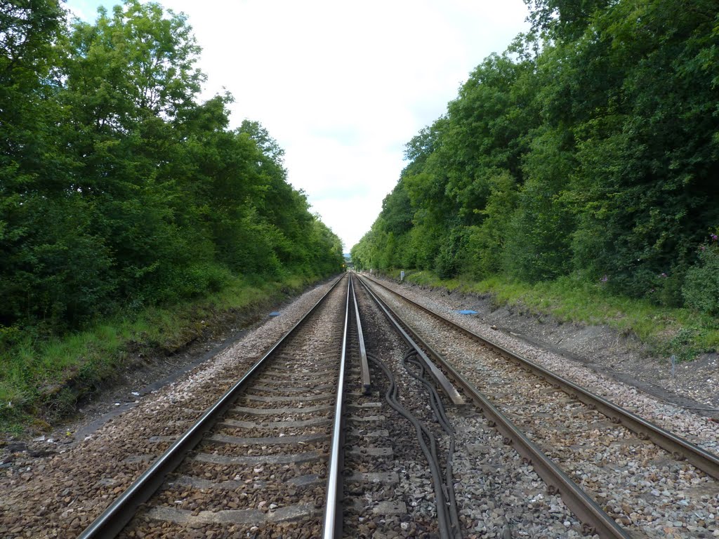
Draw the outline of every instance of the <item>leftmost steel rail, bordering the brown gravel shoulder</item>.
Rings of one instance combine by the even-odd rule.
[[[319,299],[313,307],[285,333],[279,341],[277,341],[269,351],[262,356],[247,372],[236,382],[224,395],[222,395],[213,405],[211,405],[205,413],[178,438],[165,453],[162,453],[145,472],[127,487],[127,489],[115,499],[112,504],[107,507],[104,512],[99,515],[93,522],[78,535],[78,539],[109,539],[116,537],[127,523],[132,520],[137,507],[147,502],[148,499],[160,488],[165,480],[165,476],[170,474],[185,458],[188,451],[191,451],[202,439],[216,420],[223,415],[234,400],[240,390],[244,389],[248,380],[290,336],[310,317],[318,306],[324,302],[332,290],[335,289],[339,282],[342,281],[344,275],[339,277],[330,287],[329,290]]]

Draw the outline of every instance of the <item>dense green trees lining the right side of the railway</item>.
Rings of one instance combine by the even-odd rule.
[[[354,263],[719,313],[715,1],[526,2],[532,32],[407,144]]]

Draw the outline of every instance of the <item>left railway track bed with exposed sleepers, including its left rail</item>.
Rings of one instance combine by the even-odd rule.
[[[319,536],[346,285],[338,280],[80,537]]]

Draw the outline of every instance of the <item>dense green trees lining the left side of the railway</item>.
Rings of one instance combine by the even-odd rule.
[[[68,24],[58,0],[0,0],[0,344],[232,275],[339,271],[276,142],[229,128],[231,96],[198,101],[199,52],[158,4]]]

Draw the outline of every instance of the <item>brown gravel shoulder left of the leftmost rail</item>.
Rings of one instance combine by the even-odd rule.
[[[3,448],[0,537],[71,538],[137,479],[169,442],[260,359],[329,289],[320,285],[228,349],[74,444],[47,439]],[[16,449],[17,448],[17,449]]]

